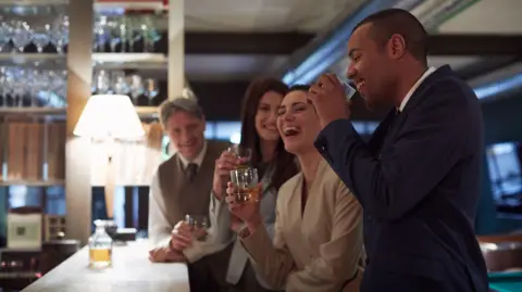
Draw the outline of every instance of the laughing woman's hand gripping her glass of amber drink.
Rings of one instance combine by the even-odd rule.
[[[261,189],[259,187],[259,189]],[[228,182],[225,198],[226,203],[228,204],[228,210],[237,218],[244,220],[247,226],[252,229],[261,224],[261,215],[259,214],[259,202],[254,200],[248,200],[247,202],[236,202],[235,186],[232,182]],[[253,230],[252,230],[253,231]]]

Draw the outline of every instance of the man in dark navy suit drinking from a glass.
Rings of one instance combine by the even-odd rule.
[[[484,143],[476,96],[449,66],[428,68],[426,31],[407,11],[369,16],[348,49],[348,77],[369,105],[395,105],[364,143],[334,75],[309,94],[323,126],[315,147],[364,208],[361,291],[487,291],[472,226]]]

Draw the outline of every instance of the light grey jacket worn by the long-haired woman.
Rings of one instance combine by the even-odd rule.
[[[261,179],[263,190],[260,202],[260,214],[270,238],[273,238],[274,234],[275,202],[277,198],[277,193],[273,189],[269,189],[273,170],[272,167],[269,167]],[[185,249],[183,253],[189,263],[194,263],[206,255],[224,250],[233,242],[226,281],[236,284],[243,276],[247,262],[249,261],[249,255],[243,247],[236,233],[231,230],[231,213],[227,204],[220,202],[214,195],[212,195],[209,217],[211,227],[207,240],[194,242],[192,245]],[[256,270],[256,277],[262,287],[271,289],[258,270]]]

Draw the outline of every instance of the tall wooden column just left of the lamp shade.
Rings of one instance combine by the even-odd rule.
[[[94,0],[70,0],[69,20],[66,237],[86,244],[91,227],[90,141],[74,137],[73,130],[90,97]]]

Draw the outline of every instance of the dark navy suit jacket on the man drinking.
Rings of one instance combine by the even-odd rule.
[[[364,210],[361,291],[487,291],[472,226],[483,128],[476,96],[443,66],[368,144],[348,119],[319,135],[315,147]]]

